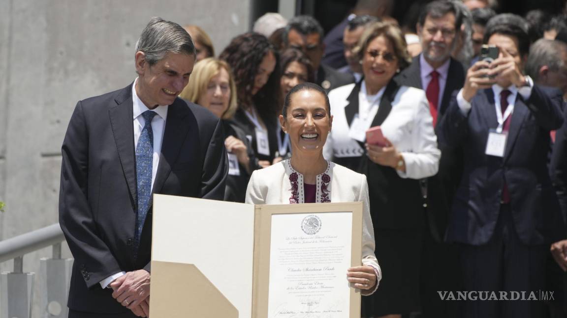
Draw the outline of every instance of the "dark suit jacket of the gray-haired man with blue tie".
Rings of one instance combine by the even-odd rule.
[[[222,200],[224,141],[218,118],[177,98],[167,111],[153,193]],[[130,84],[79,101],[62,145],[60,224],[75,258],[71,310],[129,311],[99,282],[122,270],[150,270],[151,207],[134,257],[137,202]]]

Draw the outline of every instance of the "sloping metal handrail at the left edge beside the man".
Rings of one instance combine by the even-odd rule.
[[[0,240],[0,263],[56,245],[64,240],[65,236],[58,223],[17,237]]]

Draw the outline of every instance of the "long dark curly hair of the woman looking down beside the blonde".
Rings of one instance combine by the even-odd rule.
[[[264,87],[253,95],[252,89],[258,67],[269,52],[272,52],[276,58],[276,67]],[[236,82],[238,108],[246,110],[255,106],[264,121],[272,121],[278,109],[280,66],[278,52],[270,41],[260,33],[244,33],[230,41],[230,44],[219,55],[219,59],[225,60],[232,68]]]

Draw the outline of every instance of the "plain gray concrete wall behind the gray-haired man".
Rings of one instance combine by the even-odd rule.
[[[152,16],[200,25],[220,53],[247,31],[250,3],[0,0],[0,240],[57,222],[60,149],[74,106],[133,81],[134,45]],[[24,270],[37,272],[45,256],[50,248],[27,255]]]

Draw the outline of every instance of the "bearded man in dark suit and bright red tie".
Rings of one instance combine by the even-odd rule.
[[[424,89],[434,126],[443,117],[451,95],[463,87],[462,64],[451,57],[460,36],[463,17],[448,1],[429,3],[417,23],[423,51],[400,72],[401,85]],[[458,183],[462,156],[460,150],[442,148],[437,175],[421,180],[426,205],[426,229],[421,257],[421,306],[424,317],[458,316],[458,303],[439,299],[438,290],[458,290],[460,273],[456,247],[443,242],[452,196]]]

